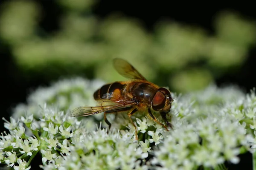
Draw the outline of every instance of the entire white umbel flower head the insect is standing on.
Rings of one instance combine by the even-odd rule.
[[[68,116],[79,105],[93,105],[93,96],[87,94],[102,84],[65,79],[32,93],[27,105],[18,105],[10,120],[4,119],[8,132],[0,135],[1,164],[33,169],[31,162],[39,155],[38,166],[45,170],[221,169],[225,161],[238,164],[239,154],[255,152],[255,91],[244,94],[235,87],[212,85],[200,92],[172,94],[176,100],[168,119],[174,129],[166,131],[137,113],[135,141],[125,114],[112,115],[110,130],[101,123],[102,114]]]

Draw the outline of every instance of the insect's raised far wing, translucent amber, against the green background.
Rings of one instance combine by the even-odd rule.
[[[129,79],[142,79],[146,80],[143,75],[139,73],[130,63],[124,59],[115,58],[113,59],[114,68],[116,71],[121,74],[123,77]]]

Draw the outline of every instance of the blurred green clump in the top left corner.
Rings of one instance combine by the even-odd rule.
[[[0,37],[9,45],[36,37],[40,7],[33,1],[6,1],[0,7]]]

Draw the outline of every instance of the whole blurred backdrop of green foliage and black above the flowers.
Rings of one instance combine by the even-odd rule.
[[[172,92],[210,84],[249,91],[256,82],[256,14],[223,4],[3,0],[0,53],[3,113],[61,78],[126,80],[113,68],[115,57]]]

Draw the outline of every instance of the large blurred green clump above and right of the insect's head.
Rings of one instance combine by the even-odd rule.
[[[197,61],[201,58],[206,38],[201,28],[174,22],[160,23],[152,47],[152,53],[157,57],[156,64],[172,70],[182,68],[190,61]]]

